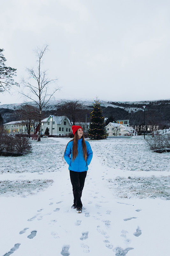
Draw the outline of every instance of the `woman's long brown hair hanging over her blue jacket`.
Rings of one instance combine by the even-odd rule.
[[[77,131],[75,132],[74,138],[70,141],[73,141],[72,161],[74,161],[74,159],[78,155],[78,134],[77,134]],[[67,143],[67,145],[68,145],[68,143]],[[85,144],[84,134],[82,135],[82,147],[83,147],[83,156],[84,156],[85,161],[86,161],[86,159],[87,159],[87,148],[86,148],[86,144]],[[66,148],[67,148],[67,146],[66,146]],[[65,151],[66,151],[66,148],[65,148]],[[65,151],[64,151],[64,155],[65,155]],[[64,155],[63,155],[63,157],[64,157]],[[62,157],[62,159],[63,159],[63,157]]]

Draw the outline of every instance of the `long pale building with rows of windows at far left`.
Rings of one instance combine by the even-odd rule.
[[[13,133],[27,133],[26,125],[23,125],[23,121],[12,121],[4,124],[4,132]],[[31,127],[31,134],[34,133],[33,126]]]

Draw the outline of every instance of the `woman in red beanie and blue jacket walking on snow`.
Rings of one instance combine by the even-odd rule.
[[[74,139],[68,142],[63,157],[69,164],[70,180],[73,187],[74,203],[71,208],[77,208],[77,212],[81,213],[83,206],[81,195],[93,152],[90,143],[84,138],[83,128],[73,125],[72,131]]]

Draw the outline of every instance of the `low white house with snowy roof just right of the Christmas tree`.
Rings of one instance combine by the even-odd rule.
[[[133,136],[137,135],[137,132],[131,126],[124,126],[120,123],[109,123],[105,126],[107,133],[109,134],[108,137],[114,136]]]

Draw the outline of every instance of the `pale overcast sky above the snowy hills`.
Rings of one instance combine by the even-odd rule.
[[[48,43],[48,76],[56,98],[113,101],[170,98],[169,0],[1,1],[0,48],[15,80],[36,65]],[[20,103],[15,91],[0,104]]]

